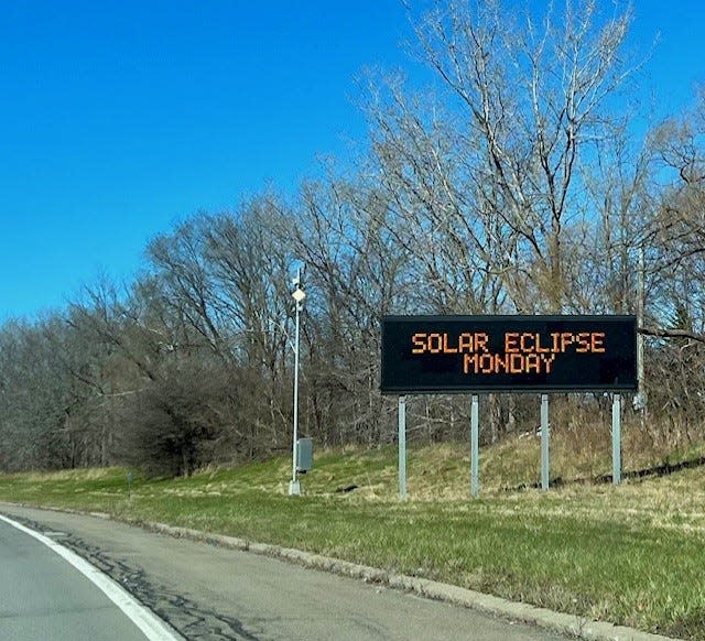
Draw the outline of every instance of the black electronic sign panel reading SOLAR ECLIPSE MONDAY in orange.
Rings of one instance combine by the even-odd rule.
[[[386,316],[383,393],[637,389],[634,316]]]

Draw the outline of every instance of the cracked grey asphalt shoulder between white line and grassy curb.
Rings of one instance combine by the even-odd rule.
[[[561,639],[466,608],[252,553],[154,534],[105,519],[4,504],[0,506],[0,513],[39,531],[62,533],[55,534],[54,539],[109,574],[186,639]],[[14,539],[6,534],[4,529],[0,530],[2,615],[7,611],[6,602],[14,604],[11,611],[22,611],[22,599],[12,597],[13,586],[18,580],[24,580],[21,575],[26,575],[28,571],[23,569],[22,563],[26,563],[36,547],[33,542],[18,543],[12,541]],[[24,550],[24,561],[15,558],[18,550]],[[56,569],[59,561],[41,556],[43,561],[36,563],[46,563],[48,567],[41,571],[42,576],[52,577],[52,594],[61,597],[67,579]],[[11,573],[4,572],[7,562],[10,562]],[[32,567],[34,569],[29,573],[36,575],[39,565],[32,562]],[[6,601],[6,595],[13,600]],[[85,595],[85,598],[89,596]],[[109,616],[97,598],[95,605],[85,608]],[[54,602],[47,596],[47,608],[48,601]],[[3,624],[4,619],[0,616],[0,638],[12,639],[3,633]],[[85,634],[72,639],[132,638],[122,633],[94,635],[94,630],[101,629],[106,626],[85,628]],[[52,629],[51,634],[34,638],[59,637]]]

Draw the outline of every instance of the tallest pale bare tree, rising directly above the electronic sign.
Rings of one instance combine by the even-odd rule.
[[[498,1],[452,2],[416,29],[448,89],[468,197],[501,221],[505,238],[488,240],[505,246],[513,265],[505,285],[522,311],[566,306],[570,245],[586,216],[581,167],[604,135],[608,99],[632,70],[620,57],[629,22],[629,12],[601,21],[589,1],[551,6],[541,19],[529,10],[518,18]]]

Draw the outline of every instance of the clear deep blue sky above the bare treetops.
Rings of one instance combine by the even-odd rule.
[[[705,8],[634,6],[632,44],[661,33],[659,108],[680,109],[705,80]],[[2,2],[0,322],[129,280],[175,220],[345,155],[355,78],[409,66],[410,39],[400,0]]]

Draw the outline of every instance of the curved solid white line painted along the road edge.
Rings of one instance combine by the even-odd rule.
[[[142,631],[150,641],[177,641],[176,637],[166,624],[159,619],[151,610],[147,609],[132,597],[124,588],[102,574],[97,567],[82,558],[67,547],[56,543],[56,541],[40,534],[34,530],[25,528],[21,523],[8,519],[0,514],[0,520],[18,530],[34,536],[37,541],[54,551],[62,558],[70,563],[78,572],[80,572],[88,580],[98,587],[105,595],[120,608],[124,615]]]

